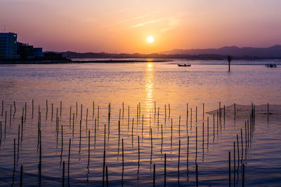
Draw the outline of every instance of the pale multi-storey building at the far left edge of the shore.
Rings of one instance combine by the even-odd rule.
[[[17,55],[17,34],[0,33],[0,59],[15,59]]]

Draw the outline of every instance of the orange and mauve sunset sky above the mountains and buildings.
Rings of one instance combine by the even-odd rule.
[[[0,32],[80,53],[268,47],[281,44],[280,8],[280,0],[0,0]]]

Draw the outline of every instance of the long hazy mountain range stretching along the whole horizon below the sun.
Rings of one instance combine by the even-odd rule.
[[[213,49],[175,49],[161,53],[76,53],[62,52],[67,58],[175,58],[190,60],[224,60],[231,55],[235,59],[281,59],[281,45],[270,48],[238,48],[236,46]]]

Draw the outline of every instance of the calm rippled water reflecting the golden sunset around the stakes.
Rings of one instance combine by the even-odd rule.
[[[265,117],[256,120],[249,148],[247,151],[244,148],[242,161],[242,149],[239,142],[240,165],[237,165],[236,155],[234,178],[233,141],[236,141],[236,134],[239,135],[240,141],[240,130],[242,129],[244,135],[244,121],[249,118],[236,120],[226,118],[225,123],[219,123],[217,127],[215,117],[215,132],[213,132],[213,116],[205,113],[203,118],[202,108],[202,103],[204,103],[205,112],[218,109],[218,102],[221,102],[221,106],[233,103],[251,105],[252,102],[254,104],[268,102],[281,104],[280,67],[273,69],[264,67],[263,64],[268,64],[268,61],[259,61],[257,63],[259,65],[254,65],[249,61],[234,61],[231,72],[228,72],[226,64],[219,61],[207,61],[207,64],[203,61],[191,62],[191,67],[178,67],[174,64],[176,62],[0,66],[0,99],[4,101],[4,114],[0,117],[1,186],[11,186],[12,183],[18,186],[20,181],[18,172],[15,172],[13,178],[13,139],[15,139],[16,154],[15,170],[20,171],[20,165],[23,165],[24,184],[30,186],[39,184],[39,106],[42,186],[61,185],[63,161],[65,161],[67,183],[70,139],[70,186],[101,186],[104,130],[106,130],[105,165],[108,167],[110,186],[121,186],[122,139],[124,139],[124,186],[152,186],[153,164],[156,165],[156,185],[163,186],[164,153],[166,153],[166,179],[169,186],[194,186],[195,162],[198,165],[200,186],[227,186],[228,151],[231,151],[232,183],[241,186],[242,162],[246,165],[245,183],[248,186],[280,186],[280,119],[270,118],[268,122]],[[281,64],[280,62],[270,61],[272,64]],[[32,99],[34,99],[33,118]],[[48,111],[46,99],[48,99]],[[13,101],[15,101],[15,109]],[[62,101],[61,117],[60,101]],[[20,125],[21,129],[22,108],[25,109],[25,102],[27,103],[26,119],[24,111],[22,134],[18,141],[18,128]],[[53,120],[51,118],[52,104]],[[111,109],[108,129],[109,104]],[[137,108],[138,104],[141,104],[141,112]],[[72,108],[71,118],[70,107]],[[57,109],[58,132],[55,120]],[[88,120],[86,120],[87,109]],[[192,122],[190,121],[191,109]],[[137,114],[139,112],[141,115]],[[5,117],[6,113],[7,117]],[[208,117],[209,136],[207,134]],[[81,118],[80,141],[79,121]],[[150,127],[152,128],[152,148]],[[91,133],[90,160],[89,130]],[[190,144],[187,169],[188,136]],[[181,140],[181,151],[178,172],[179,140]]]

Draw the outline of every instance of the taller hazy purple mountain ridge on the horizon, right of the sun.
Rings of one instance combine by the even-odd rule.
[[[239,48],[237,46],[226,46],[223,48],[210,49],[174,49],[163,51],[164,55],[231,55],[233,57],[281,57],[281,45],[269,48]]]

